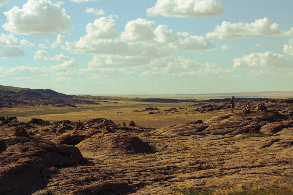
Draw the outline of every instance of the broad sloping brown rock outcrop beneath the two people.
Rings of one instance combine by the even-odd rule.
[[[154,130],[155,135],[182,136],[182,135],[237,135],[242,133],[258,132],[262,126],[269,122],[277,122],[287,119],[278,112],[237,112],[217,116],[204,123],[186,123],[176,126],[164,127]],[[264,129],[262,131],[265,131]],[[275,133],[277,130],[275,131]]]

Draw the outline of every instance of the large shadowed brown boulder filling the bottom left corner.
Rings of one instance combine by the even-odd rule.
[[[0,140],[0,194],[32,194],[45,187],[45,168],[84,161],[78,148],[34,137]]]

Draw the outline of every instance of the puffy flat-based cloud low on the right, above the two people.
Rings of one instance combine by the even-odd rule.
[[[282,54],[273,52],[265,53],[251,53],[250,55],[244,55],[243,58],[236,58],[233,60],[233,68],[269,68],[280,69],[284,67],[290,67],[293,65],[289,59]]]

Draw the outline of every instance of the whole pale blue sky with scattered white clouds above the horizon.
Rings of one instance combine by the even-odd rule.
[[[0,0],[0,85],[293,91],[293,1]]]

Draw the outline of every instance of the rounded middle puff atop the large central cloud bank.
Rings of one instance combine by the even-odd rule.
[[[129,21],[122,32],[121,39],[126,42],[131,41],[150,41],[155,38],[153,30],[156,28],[154,21],[146,19],[136,19]]]

